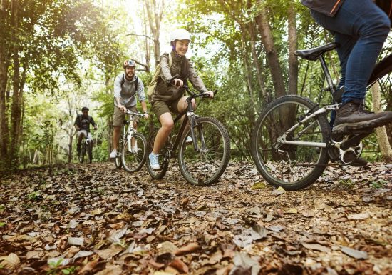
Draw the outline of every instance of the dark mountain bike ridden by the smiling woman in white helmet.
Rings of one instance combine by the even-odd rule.
[[[184,120],[177,134],[170,134],[165,145],[160,149],[160,170],[154,170],[147,160],[147,169],[153,179],[162,179],[169,166],[170,158],[177,156],[182,176],[190,184],[207,186],[215,183],[225,171],[230,157],[229,134],[220,121],[211,117],[197,116],[192,107],[192,99],[200,100],[208,94],[196,94],[187,86],[182,89],[190,94],[187,97],[187,109],[178,114],[174,123]],[[158,129],[148,138],[148,154],[153,151]],[[189,137],[192,142],[188,142]],[[175,154],[178,149],[177,154]]]

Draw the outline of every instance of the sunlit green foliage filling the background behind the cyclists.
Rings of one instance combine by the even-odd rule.
[[[143,6],[141,1],[140,6]],[[135,10],[141,11],[141,7]],[[192,33],[192,62],[207,89],[218,90],[212,101],[204,100],[197,114],[214,116],[222,121],[232,140],[234,158],[249,159],[249,141],[254,121],[268,101],[276,97],[268,55],[262,43],[259,16],[267,17],[272,29],[280,73],[284,84],[289,81],[288,12],[296,12],[298,49],[309,49],[332,41],[333,37],[311,18],[299,1],[187,0],[164,14],[164,24],[184,27]],[[145,12],[145,11],[141,11]],[[19,26],[11,28],[11,11],[0,22],[0,42],[9,56],[7,89],[13,86],[11,46],[19,45],[19,71],[26,76],[20,81],[24,90],[23,124],[20,149],[23,166],[65,163],[68,143],[73,139],[73,120],[83,105],[93,106],[93,117],[99,129],[93,133],[96,144],[94,161],[107,161],[108,136],[113,116],[113,80],[123,71],[123,59],[147,60],[144,29],[138,19],[124,13],[123,6],[110,6],[96,1],[19,0]],[[145,18],[145,14],[140,14]],[[126,22],[126,24],[124,24]],[[174,24],[174,22],[176,22]],[[165,26],[161,27],[165,39]],[[391,52],[391,37],[381,56]],[[162,49],[161,49],[162,51]],[[339,81],[339,61],[335,52],[326,54],[334,82]],[[259,64],[259,65],[257,65]],[[10,66],[12,65],[12,66]],[[150,64],[148,64],[150,65]],[[138,69],[142,66],[138,66]],[[259,68],[261,71],[258,71]],[[138,71],[147,89],[152,73]],[[321,106],[331,102],[319,62],[299,60],[298,94]],[[264,98],[262,91],[267,97]],[[392,110],[391,77],[381,81],[383,108]],[[370,93],[368,93],[370,94]],[[371,100],[366,99],[371,107]],[[11,118],[11,98],[7,101],[7,121]],[[141,109],[138,103],[138,109]],[[150,109],[150,104],[148,104]],[[371,109],[371,108],[370,108]],[[60,121],[60,123],[59,123]],[[147,121],[140,121],[138,131],[148,136]],[[9,124],[11,128],[11,124]],[[369,160],[379,160],[376,135],[364,141]],[[73,139],[73,152],[76,142]],[[73,161],[76,161],[73,154]],[[9,161],[0,159],[1,167]]]

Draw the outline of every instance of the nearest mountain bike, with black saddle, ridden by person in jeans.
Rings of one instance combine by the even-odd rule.
[[[266,106],[255,124],[251,140],[252,158],[259,173],[272,186],[282,186],[287,190],[303,189],[319,179],[329,160],[352,164],[361,155],[361,140],[373,132],[373,129],[367,129],[345,136],[331,134],[327,116],[341,105],[344,89],[337,90],[334,86],[324,54],[338,46],[329,43],[296,51],[296,55],[303,59],[321,62],[328,84],[321,93],[331,93],[331,105],[320,107],[304,96],[282,96]],[[389,55],[375,66],[368,88],[391,71],[392,55]]]

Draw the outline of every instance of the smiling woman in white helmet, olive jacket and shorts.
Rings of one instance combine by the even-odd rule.
[[[179,114],[187,108],[187,96],[183,96],[184,91],[180,89],[186,84],[187,79],[190,80],[197,91],[210,94],[210,97],[214,96],[214,93],[208,91],[202,79],[197,76],[193,64],[185,57],[190,41],[190,33],[185,29],[177,29],[172,32],[170,35],[172,51],[160,56],[160,76],[153,94],[148,98],[152,105],[151,111],[157,116],[161,124],[154,141],[153,151],[148,156],[150,166],[156,170],[160,169],[158,152],[165,144],[174,126],[170,112]],[[177,78],[171,81],[175,75],[178,75]],[[192,105],[195,107],[194,100]]]

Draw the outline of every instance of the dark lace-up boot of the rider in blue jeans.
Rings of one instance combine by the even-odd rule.
[[[333,134],[350,134],[361,129],[373,129],[392,122],[392,111],[373,113],[363,109],[362,103],[347,102],[336,111]]]

